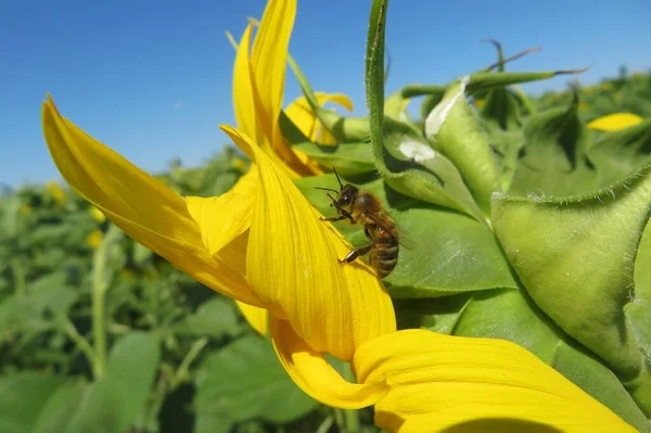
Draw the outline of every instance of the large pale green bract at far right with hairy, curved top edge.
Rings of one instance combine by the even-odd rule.
[[[493,203],[496,234],[533,300],[624,382],[642,373],[624,305],[649,219],[650,171],[651,160],[622,182],[583,198],[498,195]]]

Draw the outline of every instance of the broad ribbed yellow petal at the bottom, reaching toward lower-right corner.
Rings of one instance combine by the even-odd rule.
[[[569,432],[635,431],[525,348],[502,340],[399,331],[360,347],[354,366],[358,381],[391,387],[375,406],[375,423],[391,432],[483,432],[522,422]]]

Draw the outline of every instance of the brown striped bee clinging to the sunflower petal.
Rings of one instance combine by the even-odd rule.
[[[369,252],[369,262],[378,272],[380,278],[387,277],[398,263],[398,252],[400,242],[398,239],[398,226],[388,216],[382,202],[373,193],[367,190],[360,190],[357,187],[346,183],[342,180],[333,168],[336,180],[340,184],[340,191],[331,188],[315,187],[318,190],[334,192],[336,198],[328,192],[332,200],[330,206],[334,206],[339,213],[337,217],[323,218],[322,221],[341,221],[347,219],[350,224],[360,224],[363,226],[363,232],[370,244],[360,249],[350,251],[340,263],[353,263]]]

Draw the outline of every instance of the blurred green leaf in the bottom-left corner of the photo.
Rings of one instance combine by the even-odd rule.
[[[62,375],[39,371],[0,378],[0,433],[31,432],[38,413],[65,382]]]

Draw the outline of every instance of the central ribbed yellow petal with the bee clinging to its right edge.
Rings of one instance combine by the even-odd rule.
[[[247,280],[265,308],[285,318],[312,349],[349,360],[359,345],[395,330],[386,290],[362,262],[341,265],[350,246],[310,206],[290,178],[250,138],[221,126],[250,149],[258,169],[246,253]]]

